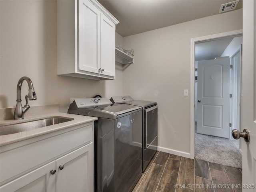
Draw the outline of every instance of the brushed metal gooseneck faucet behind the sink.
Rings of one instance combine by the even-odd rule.
[[[26,105],[24,105],[24,107],[22,107],[21,105],[21,86],[23,81],[26,80],[28,83],[28,95],[25,96],[26,99]],[[36,100],[36,93],[33,87],[33,83],[30,80],[30,78],[28,77],[22,77],[20,78],[20,80],[18,81],[17,84],[17,104],[16,104],[16,108],[14,111],[14,120],[22,120],[24,119],[24,114],[27,112],[27,110],[30,108],[30,106],[28,105],[28,100]]]

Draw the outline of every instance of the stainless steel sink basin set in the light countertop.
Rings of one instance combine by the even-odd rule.
[[[71,120],[74,120],[74,119],[64,118],[64,117],[50,117],[50,118],[44,118],[39,120],[32,120],[28,122],[18,122],[10,125],[4,125],[4,126],[0,126],[0,136],[33,130],[41,127],[54,125],[54,124],[68,122]]]

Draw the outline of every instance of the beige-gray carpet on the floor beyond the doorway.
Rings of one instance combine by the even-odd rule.
[[[225,166],[242,168],[242,155],[226,138],[195,134],[195,158]]]

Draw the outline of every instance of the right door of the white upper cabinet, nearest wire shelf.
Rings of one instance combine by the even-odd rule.
[[[101,74],[115,76],[115,31],[116,25],[104,14],[101,14]]]

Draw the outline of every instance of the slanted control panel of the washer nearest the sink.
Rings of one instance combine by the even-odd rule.
[[[106,97],[75,99],[74,102],[78,108],[112,104]]]

